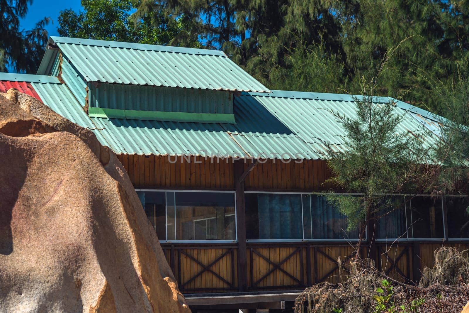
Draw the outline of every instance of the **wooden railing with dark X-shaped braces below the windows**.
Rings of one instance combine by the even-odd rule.
[[[238,245],[161,244],[166,260],[184,293],[238,292]],[[460,250],[468,243],[445,243]],[[417,282],[421,269],[432,266],[436,242],[377,243],[374,257],[379,270],[402,282]],[[363,245],[361,257],[368,257]],[[352,244],[247,243],[244,291],[302,290],[319,282],[340,282],[339,257],[351,258]],[[344,259],[347,260],[347,259]]]

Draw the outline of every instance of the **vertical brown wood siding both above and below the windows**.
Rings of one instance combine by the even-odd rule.
[[[191,157],[172,163],[167,156],[118,155],[136,188],[234,190],[233,160]],[[246,171],[251,161],[243,163]],[[238,172],[240,172],[238,170]],[[242,173],[238,173],[240,176]],[[324,183],[331,175],[323,160],[284,163],[281,160],[258,162],[246,176],[246,191],[330,190]],[[239,291],[238,252],[233,244],[162,243],[180,289],[184,293],[221,293]],[[460,251],[469,243],[457,242],[379,242],[376,243],[376,266],[392,278],[416,281],[424,267],[432,267],[434,251],[441,246]],[[353,246],[343,242],[250,243],[246,251],[247,291],[302,290],[319,282],[340,282],[337,260],[350,257]],[[362,257],[368,247],[363,246]],[[415,253],[419,255],[416,256]],[[347,264],[347,262],[344,262]]]

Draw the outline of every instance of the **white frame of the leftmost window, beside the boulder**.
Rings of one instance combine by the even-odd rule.
[[[159,240],[160,243],[186,243],[186,244],[204,244],[204,243],[237,243],[238,242],[238,218],[237,218],[237,207],[236,207],[236,191],[231,190],[184,190],[184,189],[144,189],[144,188],[136,188],[135,191],[156,191],[156,192],[165,192],[165,228],[166,228],[166,238],[168,237],[168,199],[167,199],[167,192],[174,192],[174,210],[176,209],[176,202],[175,196],[176,192],[211,192],[211,193],[232,193],[234,198],[234,240]]]

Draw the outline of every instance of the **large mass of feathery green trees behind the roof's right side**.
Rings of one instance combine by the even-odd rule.
[[[221,48],[272,89],[360,93],[362,77],[376,76],[386,52],[401,43],[376,92],[439,112],[422,71],[445,86],[458,81],[455,61],[468,56],[468,8],[467,0],[140,0],[135,16],[164,10],[182,18],[188,31],[170,43]]]

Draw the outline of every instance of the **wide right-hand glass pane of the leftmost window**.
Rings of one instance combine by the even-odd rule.
[[[234,193],[175,192],[175,197],[177,240],[236,240]]]

